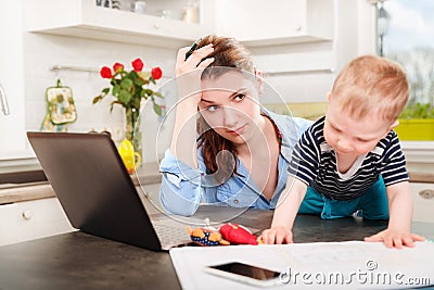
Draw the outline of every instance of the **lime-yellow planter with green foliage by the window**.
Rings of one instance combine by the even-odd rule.
[[[434,106],[419,102],[407,106],[394,130],[400,140],[434,140]]]

